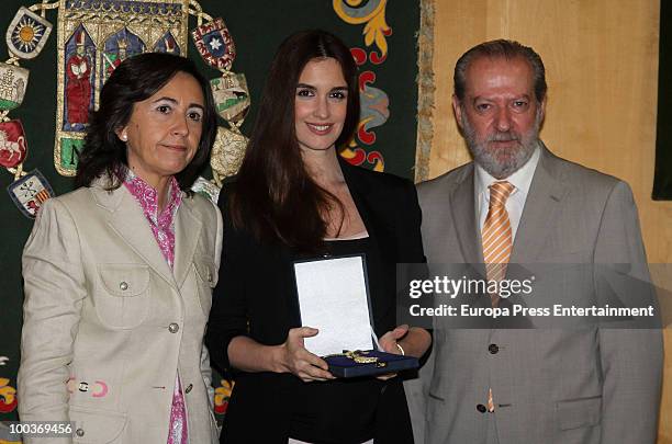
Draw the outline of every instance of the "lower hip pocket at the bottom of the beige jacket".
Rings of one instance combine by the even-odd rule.
[[[82,407],[70,407],[72,442],[77,444],[120,443],[126,426],[124,413]]]

